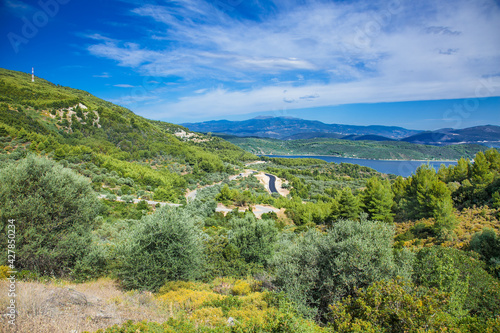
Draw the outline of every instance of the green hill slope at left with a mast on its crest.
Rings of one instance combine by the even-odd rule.
[[[81,169],[96,189],[128,182],[172,201],[183,200],[186,187],[221,180],[256,158],[221,138],[6,69],[0,69],[0,140],[0,161],[32,151]]]

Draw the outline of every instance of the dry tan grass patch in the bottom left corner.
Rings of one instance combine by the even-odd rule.
[[[123,292],[110,279],[83,284],[17,282],[17,332],[79,333],[96,331],[127,320],[164,322],[152,293]],[[7,308],[7,281],[0,281],[0,306]],[[15,332],[0,319],[0,332]]]

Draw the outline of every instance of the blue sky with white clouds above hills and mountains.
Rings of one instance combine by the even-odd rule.
[[[3,0],[0,67],[151,119],[500,125],[498,0]]]

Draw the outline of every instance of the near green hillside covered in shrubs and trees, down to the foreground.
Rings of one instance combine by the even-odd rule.
[[[408,178],[244,165],[257,157],[221,138],[0,74],[0,247],[16,253],[0,283],[17,271],[19,332],[498,332],[497,150]]]

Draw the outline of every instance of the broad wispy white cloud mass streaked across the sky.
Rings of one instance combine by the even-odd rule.
[[[493,0],[274,1],[254,18],[238,11],[137,2],[131,14],[153,37],[89,35],[88,50],[140,75],[183,80],[184,91],[165,91],[168,104],[142,108],[155,118],[466,98],[498,73]],[[491,89],[500,95],[500,83]]]

